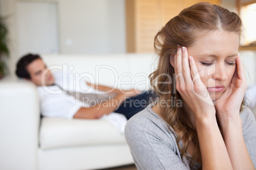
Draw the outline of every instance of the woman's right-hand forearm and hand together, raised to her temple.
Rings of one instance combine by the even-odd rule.
[[[236,58],[236,71],[229,87],[215,101],[225,146],[234,169],[255,169],[245,145],[242,121],[239,115],[246,88],[245,71],[241,58],[238,56]]]

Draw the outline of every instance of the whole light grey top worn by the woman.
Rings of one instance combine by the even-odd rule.
[[[256,122],[250,108],[240,114],[246,147],[256,167]],[[190,160],[181,161],[175,136],[166,122],[152,110],[152,105],[134,115],[125,126],[125,138],[138,169],[189,169]],[[180,141],[181,145],[182,142]],[[199,169],[196,162],[192,169]]]

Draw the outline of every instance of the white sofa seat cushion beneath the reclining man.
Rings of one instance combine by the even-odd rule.
[[[124,134],[106,120],[50,117],[41,120],[39,144],[42,149],[124,143]]]

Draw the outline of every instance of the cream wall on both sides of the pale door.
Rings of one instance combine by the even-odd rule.
[[[0,0],[0,14],[9,15],[14,75],[18,58],[17,3],[56,3],[61,54],[111,54],[126,52],[125,0]],[[19,21],[22,22],[22,21]]]

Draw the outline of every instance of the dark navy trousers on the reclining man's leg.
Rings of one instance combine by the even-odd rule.
[[[127,119],[130,119],[132,115],[137,114],[146,108],[156,97],[157,94],[154,91],[146,91],[140,95],[125,100],[115,112],[124,114]]]

